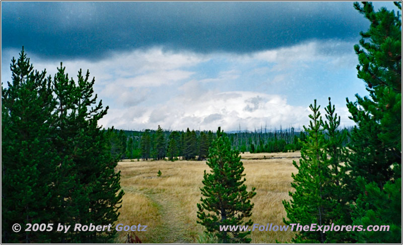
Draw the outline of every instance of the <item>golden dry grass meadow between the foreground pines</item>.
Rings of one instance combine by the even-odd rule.
[[[296,172],[292,161],[295,153],[241,154],[245,167],[246,185],[256,187],[254,223],[283,225],[286,216],[282,200],[289,199],[291,173]],[[204,227],[196,224],[196,203],[205,161],[125,161],[119,162],[121,186],[125,192],[118,223],[148,225],[147,231],[136,235],[148,243],[197,242]],[[161,177],[157,177],[161,170]],[[118,232],[116,242],[124,242],[127,232]],[[291,231],[253,231],[252,243],[289,242]]]

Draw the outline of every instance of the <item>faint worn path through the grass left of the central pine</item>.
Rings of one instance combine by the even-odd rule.
[[[193,243],[193,238],[189,237],[191,225],[186,222],[179,202],[168,199],[164,193],[149,194],[148,197],[157,204],[161,217],[161,223],[152,232],[153,242]]]

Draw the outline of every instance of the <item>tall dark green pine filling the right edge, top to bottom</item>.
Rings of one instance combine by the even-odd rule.
[[[395,2],[401,10],[401,4]],[[401,16],[371,3],[355,3],[371,22],[355,45],[358,77],[369,97],[356,95],[348,108],[358,125],[351,133],[346,193],[354,224],[388,224],[391,230],[352,233],[358,242],[401,242]],[[393,167],[392,167],[393,166]]]

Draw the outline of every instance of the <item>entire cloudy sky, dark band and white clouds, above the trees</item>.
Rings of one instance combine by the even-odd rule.
[[[298,129],[328,97],[347,127],[368,27],[353,2],[2,2],[1,79],[24,46],[37,70],[90,70],[103,127]]]

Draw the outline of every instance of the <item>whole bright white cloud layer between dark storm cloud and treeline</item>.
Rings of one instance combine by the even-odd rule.
[[[76,77],[80,68],[89,69],[91,77],[95,76],[95,92],[104,99],[104,104],[113,105],[100,121],[104,127],[141,130],[156,129],[161,125],[174,130],[216,130],[221,126],[229,131],[238,129],[239,125],[251,130],[267,124],[273,128],[282,125],[302,129],[302,125],[309,121],[308,105],[292,105],[287,101],[294,95],[306,95],[299,92],[304,87],[295,86],[297,82],[294,83],[293,79],[298,78],[295,68],[303,68],[314,61],[323,62],[328,69],[339,69],[346,63],[351,66],[352,59],[356,59],[354,53],[325,52],[326,47],[349,45],[312,41],[248,55],[203,55],[151,48],[114,53],[95,62],[66,61],[63,66],[70,77]],[[18,52],[3,52],[3,64],[8,64],[7,59],[12,55],[18,56]],[[57,61],[30,56],[29,52],[28,56],[37,70],[46,68],[48,74],[54,74],[60,65]],[[197,70],[197,65],[212,59],[221,65],[217,68],[221,69],[218,75],[209,73],[209,69],[215,68],[210,63],[203,67],[206,70]],[[2,66],[3,82],[10,80],[8,69],[8,65]],[[251,76],[257,76],[257,80],[248,80]],[[312,81],[315,82],[318,81]],[[292,91],[287,95],[274,94],[273,89],[277,87],[287,87]],[[160,88],[166,90],[156,93]],[[160,99],[161,93],[167,96]],[[313,99],[317,95],[309,96]],[[338,109],[339,105],[336,106]],[[340,108],[342,125],[352,125],[347,108],[343,105]]]

